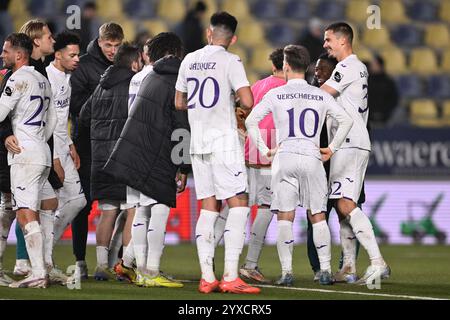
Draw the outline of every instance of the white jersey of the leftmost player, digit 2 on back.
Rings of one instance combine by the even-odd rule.
[[[31,66],[22,66],[8,79],[0,98],[8,107],[14,136],[22,152],[8,153],[8,164],[51,165],[44,125],[46,111],[52,107],[52,91],[48,80]]]

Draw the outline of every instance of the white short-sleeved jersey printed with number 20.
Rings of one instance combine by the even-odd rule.
[[[191,154],[240,148],[235,92],[247,86],[241,59],[222,46],[207,45],[184,58],[176,89],[187,93]]]

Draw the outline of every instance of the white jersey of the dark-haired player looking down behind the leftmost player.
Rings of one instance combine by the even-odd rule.
[[[57,124],[53,132],[54,154],[63,156],[70,152],[69,146],[73,144],[68,128],[70,95],[72,93],[70,73],[58,70],[53,63],[50,63],[45,69],[52,89],[57,116]]]

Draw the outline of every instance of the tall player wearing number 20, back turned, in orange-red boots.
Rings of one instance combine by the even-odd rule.
[[[185,57],[176,84],[175,106],[188,109],[195,190],[197,199],[202,200],[195,230],[202,293],[260,292],[238,277],[250,209],[234,96],[247,110],[253,106],[253,96],[241,59],[227,51],[237,40],[236,27],[237,20],[232,15],[213,14],[206,31],[208,45]],[[225,270],[219,283],[213,270],[214,224],[220,200],[225,199],[230,210],[224,231]]]

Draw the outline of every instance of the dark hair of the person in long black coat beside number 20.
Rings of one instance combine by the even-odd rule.
[[[150,40],[147,40],[147,54],[151,62],[156,62],[162,57],[172,54],[182,58],[184,54],[181,39],[173,32],[161,32]]]

